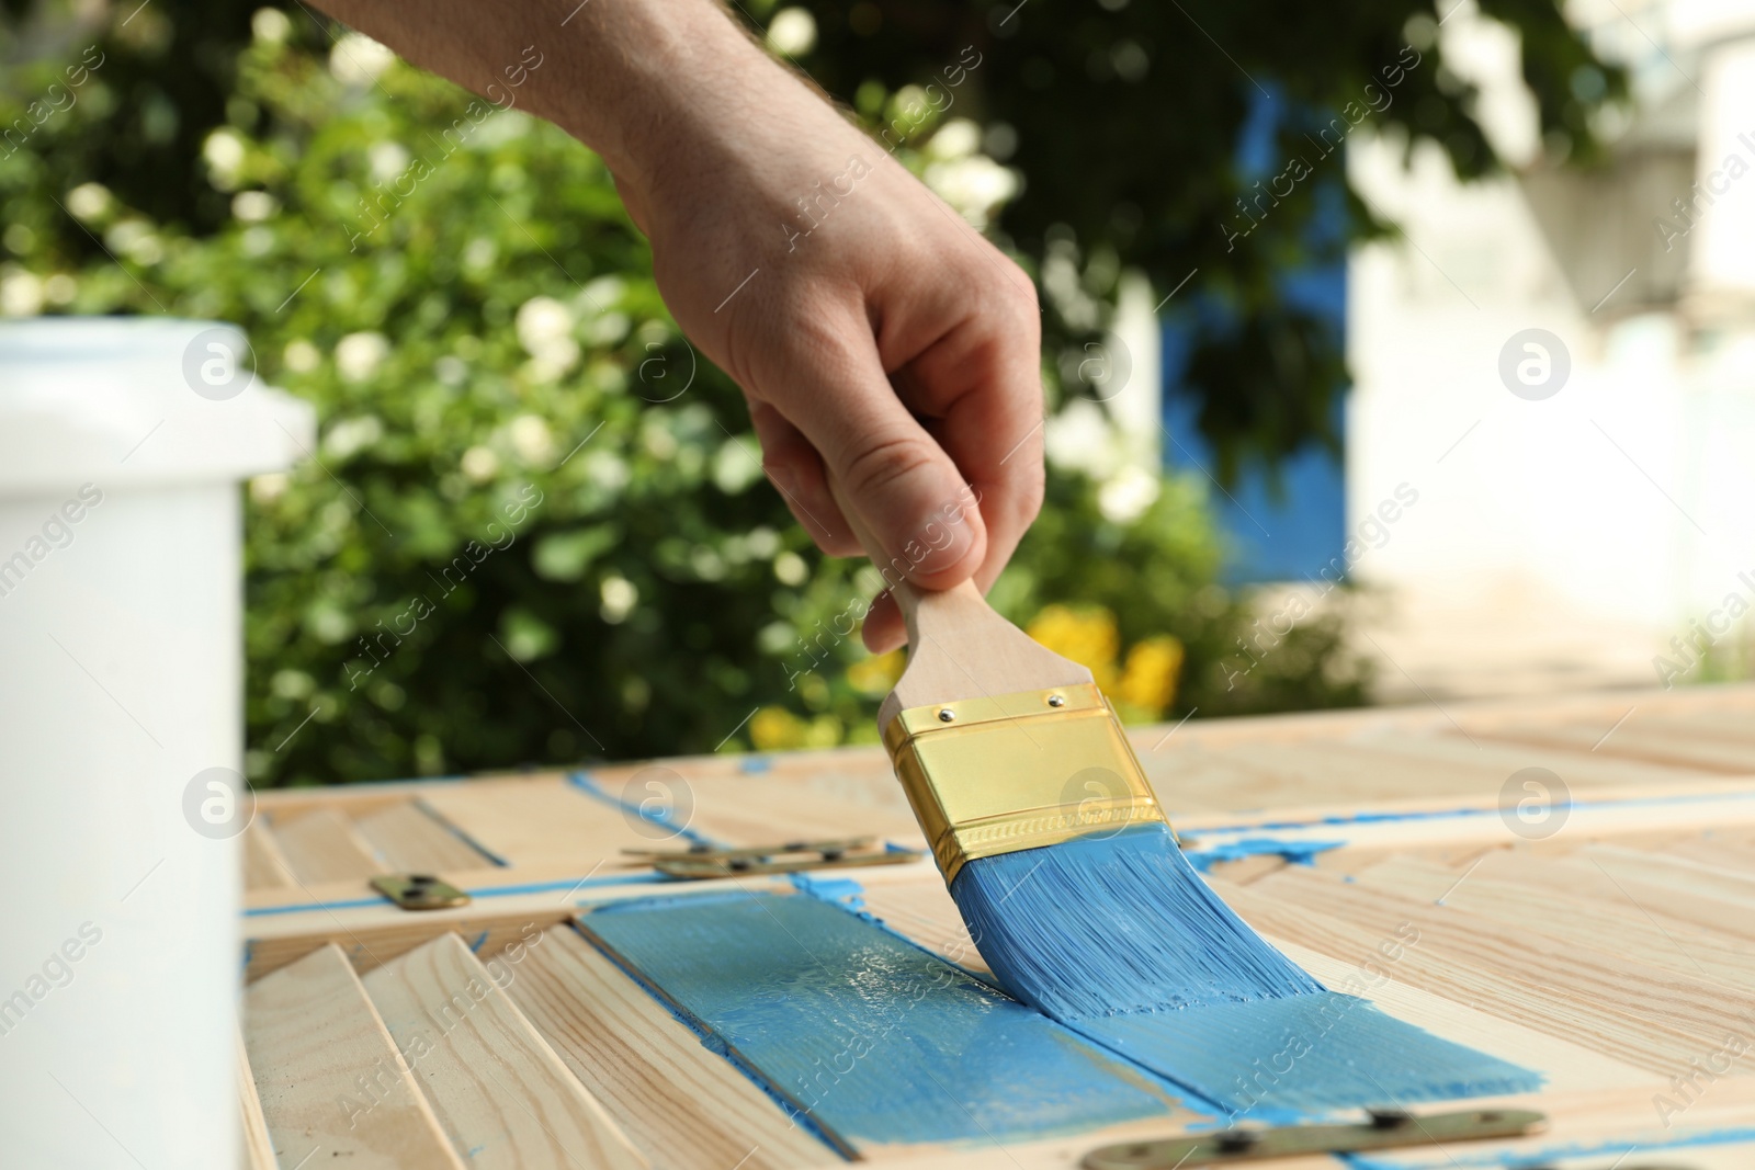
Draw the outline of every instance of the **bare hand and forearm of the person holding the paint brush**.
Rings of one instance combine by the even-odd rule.
[[[477,93],[541,51],[519,105],[609,165],[818,547],[862,551],[839,493],[911,584],[992,586],[1042,500],[1028,277],[713,0],[576,2],[323,7]],[[865,644],[904,637],[879,596]]]

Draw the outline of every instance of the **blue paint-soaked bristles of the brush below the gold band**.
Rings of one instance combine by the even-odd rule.
[[[1322,991],[1207,889],[1167,824],[976,858],[951,896],[1000,984],[1055,1019]]]

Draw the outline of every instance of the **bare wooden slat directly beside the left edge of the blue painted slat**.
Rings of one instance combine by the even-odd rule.
[[[569,924],[498,956],[507,995],[656,1170],[839,1161]]]

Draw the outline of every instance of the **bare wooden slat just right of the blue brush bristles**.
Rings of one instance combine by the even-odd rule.
[[[1358,935],[1337,930],[1334,919],[1376,938],[1393,937],[1404,923],[1413,923],[1422,944],[1397,963],[1397,977],[1639,1068],[1685,1067],[1702,1045],[1709,1047],[1706,1037],[1716,1033],[1716,1044],[1723,1024],[1736,1019],[1734,1012],[1715,1007],[1722,988],[1702,988],[1701,981],[1669,972],[1639,979],[1629,972],[1630,963],[1604,965],[1595,954],[1551,940],[1479,930],[1443,907],[1385,898],[1314,870],[1292,867],[1253,886],[1214,882],[1214,888],[1257,930],[1329,954],[1337,954],[1339,945],[1337,958],[1346,958],[1344,947],[1357,942],[1336,938]],[[1706,1000],[1699,998],[1702,989]]]

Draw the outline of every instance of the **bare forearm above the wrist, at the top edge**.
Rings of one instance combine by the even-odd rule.
[[[746,133],[772,130],[781,103],[765,95],[802,86],[714,0],[323,0],[323,9],[490,100],[521,79],[518,107],[602,154],[637,218],[656,175],[704,149],[706,121],[714,154],[735,153]],[[532,60],[541,65],[528,68]]]

